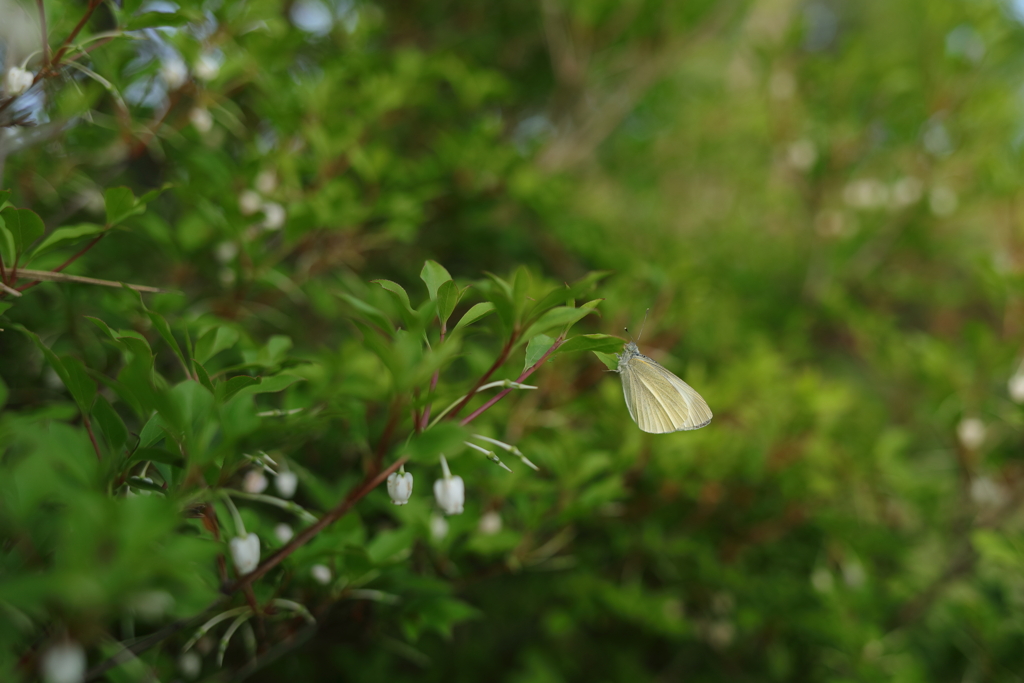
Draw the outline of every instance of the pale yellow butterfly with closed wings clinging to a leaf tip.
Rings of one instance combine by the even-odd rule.
[[[635,342],[617,354],[626,407],[645,432],[665,434],[699,429],[711,422],[707,401],[693,387],[640,352]]]

